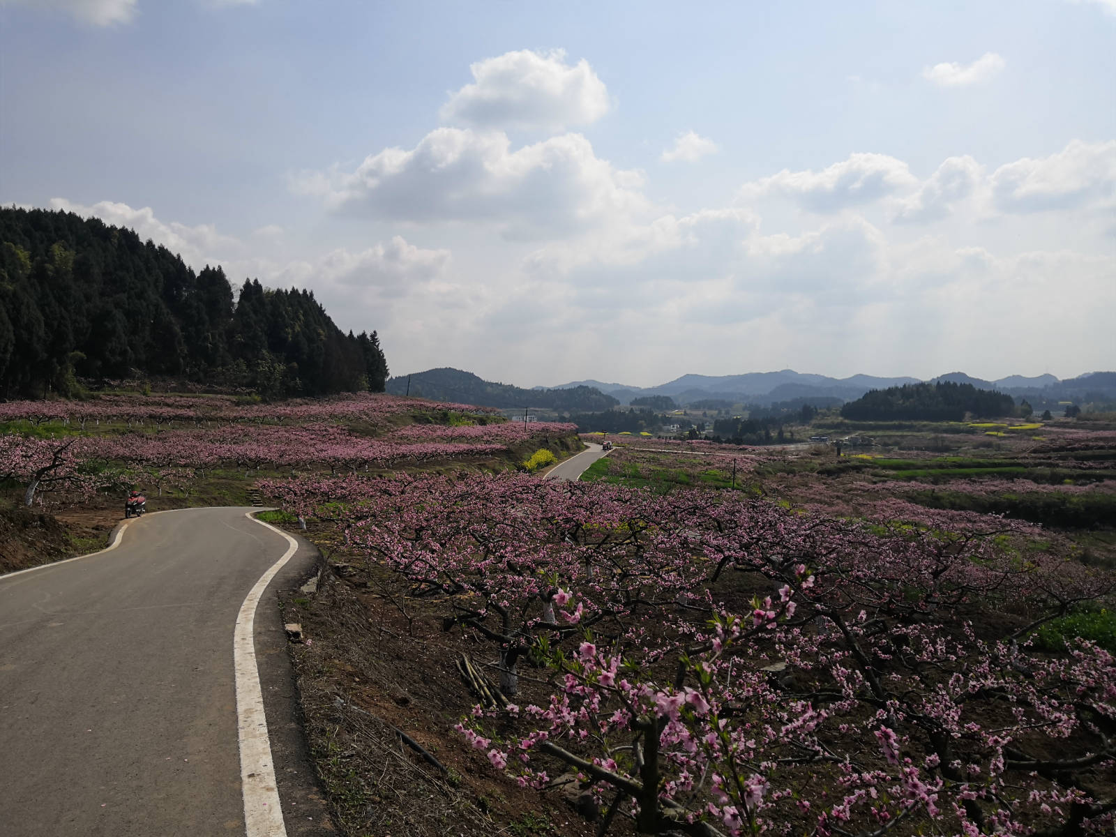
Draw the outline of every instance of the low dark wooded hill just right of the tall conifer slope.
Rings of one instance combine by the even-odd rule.
[[[392,378],[387,382],[387,392],[405,395],[408,378],[412,395],[487,407],[595,412],[619,404],[613,396],[588,386],[574,386],[568,389],[523,389],[511,384],[493,384],[471,372],[449,367]]]

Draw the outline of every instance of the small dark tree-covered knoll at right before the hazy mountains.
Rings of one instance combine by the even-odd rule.
[[[940,381],[873,389],[840,408],[852,421],[960,422],[965,414],[995,417],[1010,415],[1016,403],[1010,395],[978,389],[972,384]]]

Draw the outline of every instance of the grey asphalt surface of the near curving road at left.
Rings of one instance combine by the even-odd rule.
[[[113,551],[0,578],[4,837],[246,834],[233,626],[288,549],[247,511],[148,514]],[[287,833],[328,833],[285,644],[266,595],[254,648]]]

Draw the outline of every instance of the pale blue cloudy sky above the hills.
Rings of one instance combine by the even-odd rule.
[[[0,0],[0,203],[393,374],[1116,368],[1116,0]]]

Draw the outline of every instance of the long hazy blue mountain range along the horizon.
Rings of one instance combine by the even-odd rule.
[[[1059,401],[1116,400],[1116,372],[1091,372],[1076,378],[1059,381],[1054,375],[1009,375],[998,381],[984,381],[963,372],[939,375],[935,381],[972,384],[980,389],[997,389],[1019,401],[1027,398],[1032,406],[1052,405]],[[410,384],[408,384],[410,382]],[[531,407],[556,412],[596,412],[633,398],[666,395],[680,405],[719,400],[732,404],[766,405],[793,400],[818,398],[831,404],[834,398],[856,401],[869,389],[916,384],[914,377],[877,377],[852,375],[833,378],[781,369],[750,372],[743,375],[683,375],[660,386],[639,387],[608,384],[603,381],[571,381],[560,386],[537,386],[532,389],[483,381],[471,372],[450,367],[400,375],[387,382],[387,392],[422,395],[426,398],[456,401],[493,407]]]

